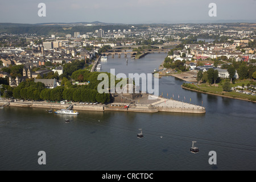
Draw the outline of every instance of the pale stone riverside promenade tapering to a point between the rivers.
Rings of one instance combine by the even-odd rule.
[[[150,96],[151,97],[151,96]],[[10,102],[0,101],[0,105],[16,106],[16,107],[35,107],[51,109],[67,109],[71,104],[48,103],[46,101],[28,101],[28,102]],[[125,108],[125,106],[129,106]],[[170,113],[191,113],[191,114],[204,114],[205,107],[189,104],[186,102],[175,101],[167,98],[156,97],[155,100],[148,100],[148,94],[144,98],[140,98],[138,102],[133,104],[128,103],[111,103],[107,105],[81,105],[77,102],[72,103],[73,110],[87,110],[87,111],[125,111],[125,112],[139,112],[139,113],[157,113],[157,112],[170,112]]]

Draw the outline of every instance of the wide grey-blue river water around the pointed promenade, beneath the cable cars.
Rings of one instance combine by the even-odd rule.
[[[151,73],[166,53],[142,59],[109,56],[102,71]],[[181,88],[159,79],[159,93],[206,107],[205,114],[80,111],[76,117],[46,109],[0,109],[0,170],[256,170],[256,104]],[[137,133],[143,130],[144,138]],[[199,153],[192,154],[192,141]],[[46,165],[38,152],[46,152]],[[210,165],[210,151],[216,165]]]

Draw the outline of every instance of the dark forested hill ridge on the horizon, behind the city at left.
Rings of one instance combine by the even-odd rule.
[[[36,34],[47,35],[54,34],[56,36],[65,36],[80,32],[95,32],[96,30],[123,30],[129,29],[126,24],[104,24],[97,23],[94,26],[83,26],[82,23],[48,23],[48,24],[19,24],[19,23],[0,23],[0,34]]]

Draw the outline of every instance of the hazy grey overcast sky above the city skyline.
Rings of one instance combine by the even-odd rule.
[[[46,17],[38,4],[46,4]],[[209,3],[217,16],[210,17]],[[0,0],[0,23],[195,23],[255,20],[256,0]]]

